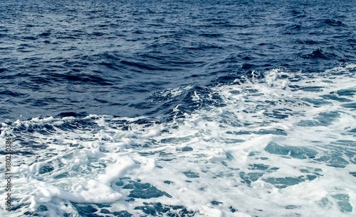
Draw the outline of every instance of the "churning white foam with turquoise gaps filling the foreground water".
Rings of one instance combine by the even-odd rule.
[[[169,123],[2,123],[1,147],[15,140],[12,216],[355,216],[355,69],[274,69],[214,87],[224,106]]]

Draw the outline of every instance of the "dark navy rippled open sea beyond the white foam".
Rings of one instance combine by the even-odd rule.
[[[1,1],[0,10],[3,120],[158,116],[192,94],[155,94],[166,89],[204,95],[253,70],[356,60],[354,1]]]

